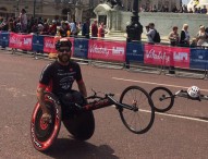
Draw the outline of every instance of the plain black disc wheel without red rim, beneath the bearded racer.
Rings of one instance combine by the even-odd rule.
[[[72,119],[63,120],[63,124],[68,132],[78,140],[89,139],[95,132],[93,111],[75,113]]]

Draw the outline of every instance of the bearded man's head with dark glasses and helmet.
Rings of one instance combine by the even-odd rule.
[[[72,42],[68,38],[61,38],[56,44],[58,59],[62,63],[68,63],[71,58]]]

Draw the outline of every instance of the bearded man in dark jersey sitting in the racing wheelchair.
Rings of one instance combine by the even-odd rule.
[[[42,110],[42,120],[49,122],[51,114],[45,105],[44,91],[51,91],[59,99],[72,93],[72,85],[76,81],[79,96],[87,97],[85,83],[78,63],[71,60],[72,44],[68,38],[61,38],[56,44],[58,60],[49,63],[41,72],[37,87],[37,99]],[[76,91],[77,93],[77,91]],[[79,94],[78,93],[78,94]],[[75,94],[75,96],[78,96]],[[70,96],[69,96],[70,97]],[[64,110],[63,110],[64,111]]]

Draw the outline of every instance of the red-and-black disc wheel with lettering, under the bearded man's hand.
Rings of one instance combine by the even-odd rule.
[[[61,126],[61,107],[51,94],[45,94],[45,103],[52,117],[49,123],[42,121],[42,111],[40,105],[37,102],[33,111],[30,121],[30,138],[34,147],[44,151],[51,147]]]

